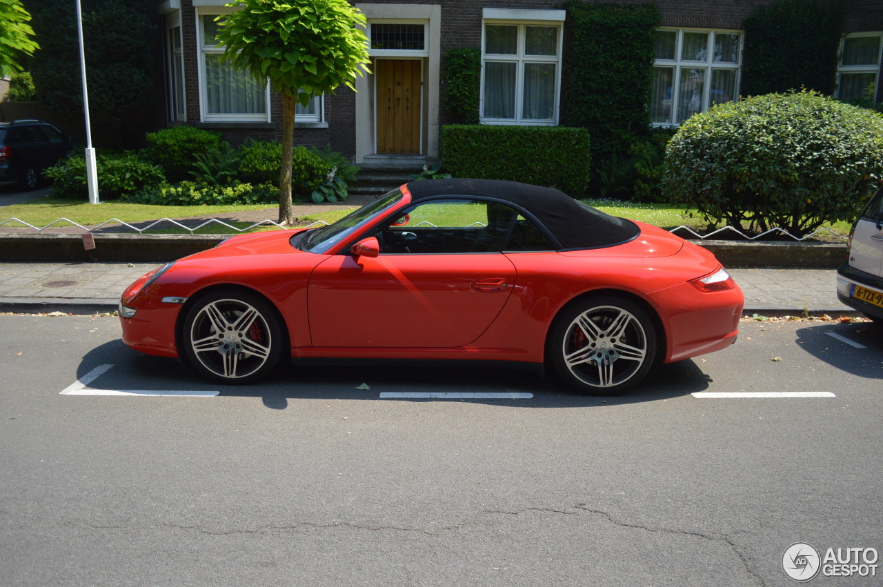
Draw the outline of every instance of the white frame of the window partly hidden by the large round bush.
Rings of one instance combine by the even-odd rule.
[[[675,58],[674,59],[654,59],[653,69],[671,69],[674,71],[672,78],[672,95],[671,95],[671,117],[668,121],[653,121],[653,126],[679,126],[683,121],[677,120],[677,109],[680,103],[681,92],[681,71],[683,69],[704,69],[706,71],[705,84],[702,89],[702,112],[711,108],[711,91],[712,91],[712,71],[728,70],[736,71],[736,91],[733,95],[733,102],[739,100],[739,85],[742,83],[742,55],[744,49],[745,34],[743,31],[728,28],[685,28],[674,26],[660,26],[657,32],[674,32],[675,33]],[[706,59],[705,61],[692,61],[682,58],[683,35],[685,33],[702,33],[707,34],[706,41]],[[714,35],[715,34],[738,34],[739,50],[736,56],[736,63],[715,62],[714,61]],[[651,97],[651,102],[653,102]]]

